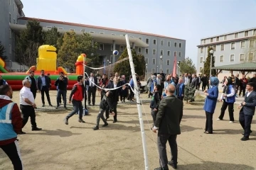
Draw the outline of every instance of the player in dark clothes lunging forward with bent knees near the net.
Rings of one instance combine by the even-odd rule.
[[[103,94],[103,98],[100,101],[100,112],[97,115],[96,125],[95,125],[95,127],[92,128],[93,130],[99,129],[100,118],[104,122],[104,125],[102,125],[102,127],[106,127],[108,125],[107,120],[105,120],[103,114],[107,110],[107,106],[110,108],[110,113],[112,113],[114,110],[113,105],[112,105],[112,103],[113,103],[112,95],[113,95],[112,91],[107,91],[106,94]]]

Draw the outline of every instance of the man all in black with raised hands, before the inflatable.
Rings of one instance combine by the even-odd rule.
[[[57,93],[57,107],[60,107],[60,98],[63,97],[64,108],[67,109],[67,86],[68,86],[68,79],[64,77],[63,72],[60,72],[60,77],[55,81],[55,86],[58,86],[58,93]]]

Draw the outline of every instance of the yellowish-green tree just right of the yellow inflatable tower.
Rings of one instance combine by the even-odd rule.
[[[75,32],[70,31],[63,36],[63,45],[58,51],[58,66],[72,69],[74,67],[75,61],[80,55],[77,52],[78,42],[75,38]]]

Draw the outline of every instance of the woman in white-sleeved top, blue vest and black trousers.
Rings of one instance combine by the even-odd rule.
[[[233,88],[231,77],[224,81],[224,89],[223,94],[220,96],[220,101],[223,101],[223,106],[220,109],[220,116],[217,120],[223,120],[225,110],[228,108],[230,123],[234,123],[235,89]]]

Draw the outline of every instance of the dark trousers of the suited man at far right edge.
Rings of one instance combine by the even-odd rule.
[[[239,122],[240,122],[240,125],[242,126],[242,129],[245,130],[245,135],[244,135],[245,137],[250,136],[252,118],[253,118],[253,115],[245,115],[245,113],[243,113],[243,110],[241,109],[239,113]]]

